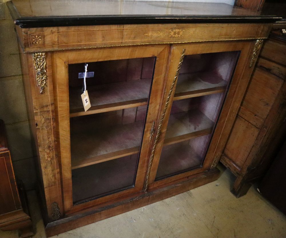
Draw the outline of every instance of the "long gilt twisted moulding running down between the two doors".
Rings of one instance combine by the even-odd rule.
[[[159,121],[156,138],[155,138],[154,145],[153,145],[153,148],[152,148],[152,154],[151,154],[151,157],[150,157],[150,160],[149,160],[149,164],[148,164],[148,170],[147,170],[146,181],[145,181],[145,186],[144,186],[144,191],[145,192],[148,189],[151,168],[152,168],[152,164],[153,164],[154,155],[155,155],[156,147],[157,147],[157,144],[158,144],[158,140],[159,140],[159,137],[160,137],[160,134],[161,134],[162,124],[163,124],[163,121],[164,121],[164,118],[165,118],[165,114],[166,114],[166,111],[167,111],[167,108],[168,108],[168,104],[170,102],[170,98],[172,96],[172,92],[174,90],[174,87],[176,85],[176,82],[177,82],[177,79],[178,79],[178,76],[179,76],[179,71],[180,71],[181,65],[183,63],[185,52],[186,52],[186,49],[183,49],[183,52],[182,52],[182,55],[181,55],[181,58],[180,58],[180,61],[179,61],[179,65],[178,65],[178,68],[177,68],[177,71],[176,71],[176,75],[175,75],[175,78],[174,78],[174,80],[172,82],[172,86],[170,88],[170,91],[169,91],[169,94],[168,94],[168,97],[167,97],[167,100],[166,100],[166,103],[165,103],[164,111],[163,111],[163,114],[162,114],[162,116],[160,118],[160,121]]]

